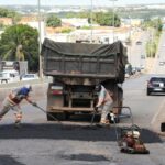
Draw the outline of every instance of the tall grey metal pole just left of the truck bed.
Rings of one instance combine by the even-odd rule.
[[[40,78],[43,79],[43,72],[42,72],[42,56],[41,56],[41,1],[37,0],[37,19],[38,19],[38,67],[40,67]]]

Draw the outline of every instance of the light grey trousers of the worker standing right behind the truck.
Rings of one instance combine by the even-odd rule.
[[[112,101],[107,101],[103,105],[102,111],[101,111],[101,121],[108,120],[108,114],[110,113],[112,108],[113,108],[113,102]]]

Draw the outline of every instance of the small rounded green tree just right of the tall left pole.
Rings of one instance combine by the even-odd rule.
[[[57,28],[57,26],[62,26],[62,20],[58,19],[56,15],[50,15],[47,18],[47,26],[53,26],[53,28]]]

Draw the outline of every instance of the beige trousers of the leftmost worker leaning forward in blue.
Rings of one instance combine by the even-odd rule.
[[[0,118],[2,118],[10,109],[16,112],[16,114],[22,113],[19,106],[10,100],[9,97],[6,97],[6,99],[2,102],[2,109],[0,111]]]

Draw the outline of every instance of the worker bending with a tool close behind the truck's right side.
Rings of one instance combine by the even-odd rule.
[[[96,89],[98,92],[98,103],[96,105],[96,110],[101,108],[101,120],[100,124],[109,124],[108,114],[113,108],[113,92],[108,91],[102,85],[97,85]]]

